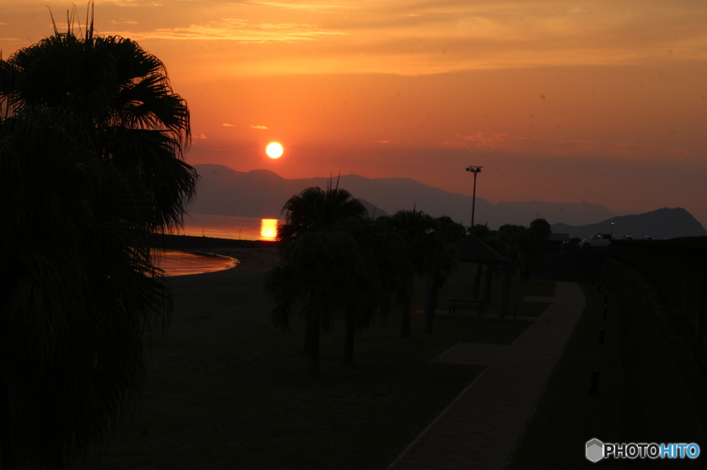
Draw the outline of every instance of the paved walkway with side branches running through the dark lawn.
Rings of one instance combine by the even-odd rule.
[[[585,299],[574,282],[513,344],[460,343],[433,362],[488,366],[388,470],[503,469],[562,355]]]

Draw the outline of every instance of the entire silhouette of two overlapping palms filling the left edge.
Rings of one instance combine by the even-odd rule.
[[[0,455],[61,469],[141,385],[170,294],[153,231],[182,222],[189,112],[163,64],[71,31],[0,59]]]

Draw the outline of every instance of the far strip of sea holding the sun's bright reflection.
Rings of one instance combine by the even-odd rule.
[[[218,239],[274,240],[280,219],[254,219],[230,215],[190,214],[184,219],[180,234],[211,236]]]

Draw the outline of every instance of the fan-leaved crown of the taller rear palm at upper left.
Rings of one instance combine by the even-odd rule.
[[[98,156],[134,172],[146,192],[153,229],[180,226],[194,195],[196,171],[183,161],[189,110],[172,91],[164,64],[122,37],[56,33],[0,60],[0,112],[28,107],[68,109],[93,140]]]

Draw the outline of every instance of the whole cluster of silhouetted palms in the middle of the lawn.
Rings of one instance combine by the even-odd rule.
[[[329,331],[337,315],[346,330],[345,366],[354,361],[356,330],[377,317],[399,313],[400,335],[409,337],[415,275],[432,282],[424,306],[426,332],[432,332],[436,292],[457,266],[450,244],[466,236],[461,224],[419,210],[371,219],[338,183],[305,189],[283,211],[281,262],[267,273],[264,287],[274,299],[271,316],[278,327],[288,330],[295,313],[304,319],[303,352],[313,376],[320,375],[320,331]]]

